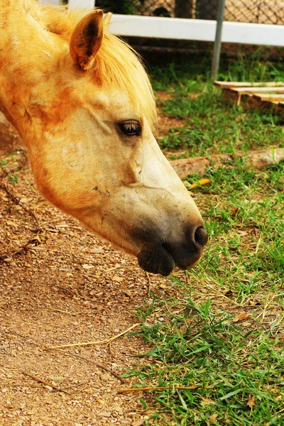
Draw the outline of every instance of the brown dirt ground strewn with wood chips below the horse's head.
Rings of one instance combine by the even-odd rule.
[[[149,278],[157,295],[167,281],[43,200],[17,136],[0,138],[0,161],[0,425],[143,425],[142,395],[117,393],[149,349],[141,337],[45,348],[124,332]]]

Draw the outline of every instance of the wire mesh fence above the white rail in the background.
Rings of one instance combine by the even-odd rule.
[[[172,18],[217,18],[219,0],[97,0],[114,13]],[[225,21],[284,24],[284,0],[226,0]]]

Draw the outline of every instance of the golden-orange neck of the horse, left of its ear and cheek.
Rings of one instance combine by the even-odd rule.
[[[24,140],[31,137],[28,109],[48,102],[55,87],[48,82],[58,65],[56,36],[39,17],[35,0],[0,0],[0,109]]]

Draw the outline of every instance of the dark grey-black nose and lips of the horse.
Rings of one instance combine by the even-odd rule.
[[[204,226],[198,226],[187,232],[182,242],[165,241],[147,246],[138,253],[139,266],[144,271],[169,275],[175,266],[189,269],[199,261],[204,245],[208,241],[208,233]]]

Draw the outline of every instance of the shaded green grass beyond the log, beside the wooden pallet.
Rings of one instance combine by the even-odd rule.
[[[260,114],[236,105],[228,107],[222,102],[221,89],[209,83],[208,60],[197,65],[197,70],[196,62],[171,64],[167,72],[156,67],[152,70],[154,89],[171,95],[159,102],[160,111],[183,119],[182,126],[173,127],[160,137],[161,148],[182,149],[185,155],[195,156],[284,146],[283,128],[272,110]],[[234,81],[284,81],[284,67],[279,67],[278,71],[275,65],[263,65],[259,60],[229,62],[221,77]]]

